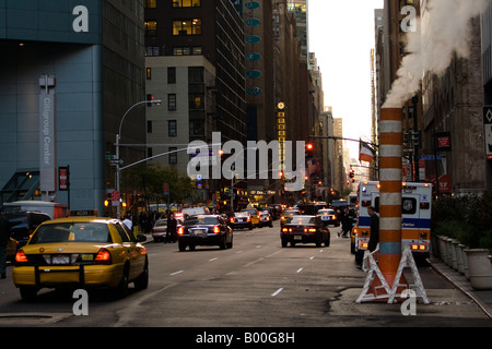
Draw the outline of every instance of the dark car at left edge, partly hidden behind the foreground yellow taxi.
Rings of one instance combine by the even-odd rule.
[[[11,210],[4,213],[9,219],[12,239],[23,246],[30,240],[31,234],[36,228],[46,220],[50,220],[47,214],[40,212]]]

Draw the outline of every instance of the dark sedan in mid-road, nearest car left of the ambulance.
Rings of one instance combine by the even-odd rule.
[[[316,243],[316,246],[330,245],[330,231],[316,216],[292,216],[288,222],[280,228],[282,248],[290,242],[292,246],[296,243]]]

